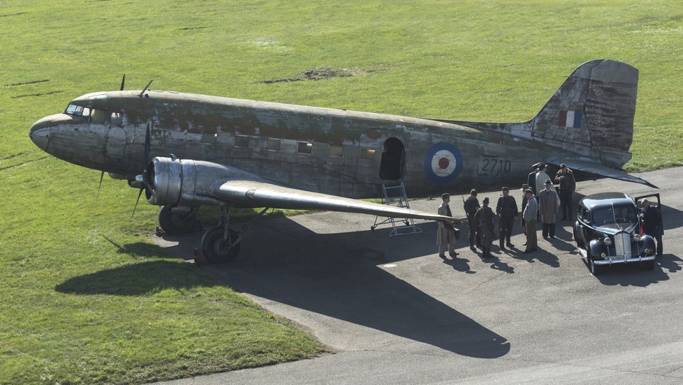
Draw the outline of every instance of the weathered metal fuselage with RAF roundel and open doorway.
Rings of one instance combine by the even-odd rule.
[[[110,91],[72,100],[31,139],[57,158],[120,178],[150,156],[207,160],[279,185],[330,195],[381,195],[403,181],[411,196],[517,187],[529,165],[558,151],[531,139],[404,116],[170,91]],[[79,112],[79,108],[82,110]]]

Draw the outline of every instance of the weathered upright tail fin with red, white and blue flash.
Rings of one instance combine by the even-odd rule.
[[[576,68],[530,121],[449,122],[544,142],[620,169],[631,159],[637,89],[636,68],[593,60]]]

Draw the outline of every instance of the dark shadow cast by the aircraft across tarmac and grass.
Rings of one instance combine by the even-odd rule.
[[[421,235],[389,239],[390,228],[316,234],[288,218],[274,218],[261,221],[258,230],[247,233],[242,255],[235,262],[209,269],[240,292],[295,308],[464,356],[506,355],[510,351],[506,338],[378,266],[434,255],[436,229],[429,229],[432,226],[436,225],[420,224],[425,231]],[[198,239],[196,233],[194,245]],[[183,269],[194,268],[175,262],[142,262],[71,278],[56,289],[72,294],[135,295],[163,287],[215,284],[185,282]]]

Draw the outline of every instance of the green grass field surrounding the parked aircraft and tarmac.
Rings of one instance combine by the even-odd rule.
[[[323,347],[147,240],[158,208],[38,150],[83,93],[523,121],[574,68],[640,70],[629,171],[683,164],[680,1],[0,0],[0,383],[142,383]],[[358,76],[274,82],[318,67]]]

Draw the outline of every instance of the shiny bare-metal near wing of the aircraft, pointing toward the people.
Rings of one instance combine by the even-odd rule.
[[[230,180],[212,190],[214,197],[237,206],[273,207],[276,209],[325,210],[362,213],[389,218],[437,220],[463,225],[464,220],[409,210],[386,204],[365,202],[310,191],[287,188],[263,181]]]

